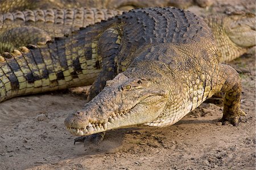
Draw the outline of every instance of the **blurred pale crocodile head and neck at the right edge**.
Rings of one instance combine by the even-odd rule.
[[[255,47],[255,14],[214,14],[204,20],[213,31],[221,62],[234,60]]]

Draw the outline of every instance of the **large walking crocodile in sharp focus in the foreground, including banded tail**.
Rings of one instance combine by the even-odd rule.
[[[92,99],[116,76],[65,120],[76,135],[172,125],[217,92],[226,93],[223,121],[237,125],[244,114],[238,73],[218,64],[207,24],[180,9],[133,10],[1,60],[1,101],[94,81]]]

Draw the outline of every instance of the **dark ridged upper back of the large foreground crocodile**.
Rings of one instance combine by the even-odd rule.
[[[166,7],[132,10],[123,14],[123,31],[128,44],[193,43],[201,38],[213,40],[208,25],[189,11]]]

